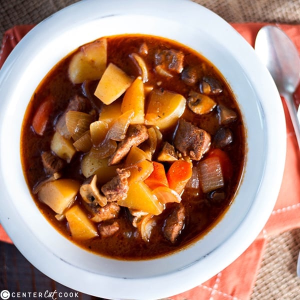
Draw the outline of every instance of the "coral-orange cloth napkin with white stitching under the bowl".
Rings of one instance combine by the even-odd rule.
[[[232,24],[251,45],[254,45],[255,36],[263,25],[265,24]],[[16,43],[32,27],[33,25],[20,25],[5,32],[0,51],[0,67]],[[300,51],[300,25],[278,24],[278,27],[289,35]],[[297,104],[300,102],[300,88],[297,89],[294,100]],[[198,286],[171,296],[168,300],[248,299],[256,279],[267,237],[300,227],[300,155],[289,114],[284,104],[283,107],[287,130],[285,169],[278,199],[266,225],[248,249],[229,266],[206,282],[199,282]],[[270,188],[272,187],[270,186]],[[11,242],[1,226],[0,240]]]

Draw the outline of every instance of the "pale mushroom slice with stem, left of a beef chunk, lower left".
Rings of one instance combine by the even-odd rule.
[[[107,203],[105,196],[101,195],[99,189],[96,186],[97,175],[87,178],[87,180],[81,184],[79,193],[82,199],[87,203],[98,203],[101,206],[104,206]]]

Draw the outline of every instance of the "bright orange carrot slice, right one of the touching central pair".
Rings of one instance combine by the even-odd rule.
[[[166,173],[169,187],[180,194],[192,174],[192,164],[178,159],[174,161]]]

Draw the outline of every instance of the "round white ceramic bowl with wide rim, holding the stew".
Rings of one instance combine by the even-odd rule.
[[[146,261],[89,253],[61,236],[29,194],[20,163],[20,128],[28,101],[63,56],[98,37],[146,33],[177,40],[221,71],[239,102],[247,158],[225,216],[184,250]],[[22,254],[54,280],[91,295],[155,299],[190,289],[222,270],[255,239],[282,179],[285,121],[276,87],[253,49],[223,19],[188,0],[85,0],[35,26],[0,70],[0,221]]]

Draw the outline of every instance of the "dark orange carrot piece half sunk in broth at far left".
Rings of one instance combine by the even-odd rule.
[[[43,135],[52,109],[53,99],[49,95],[41,102],[33,116],[32,128],[36,134]]]

